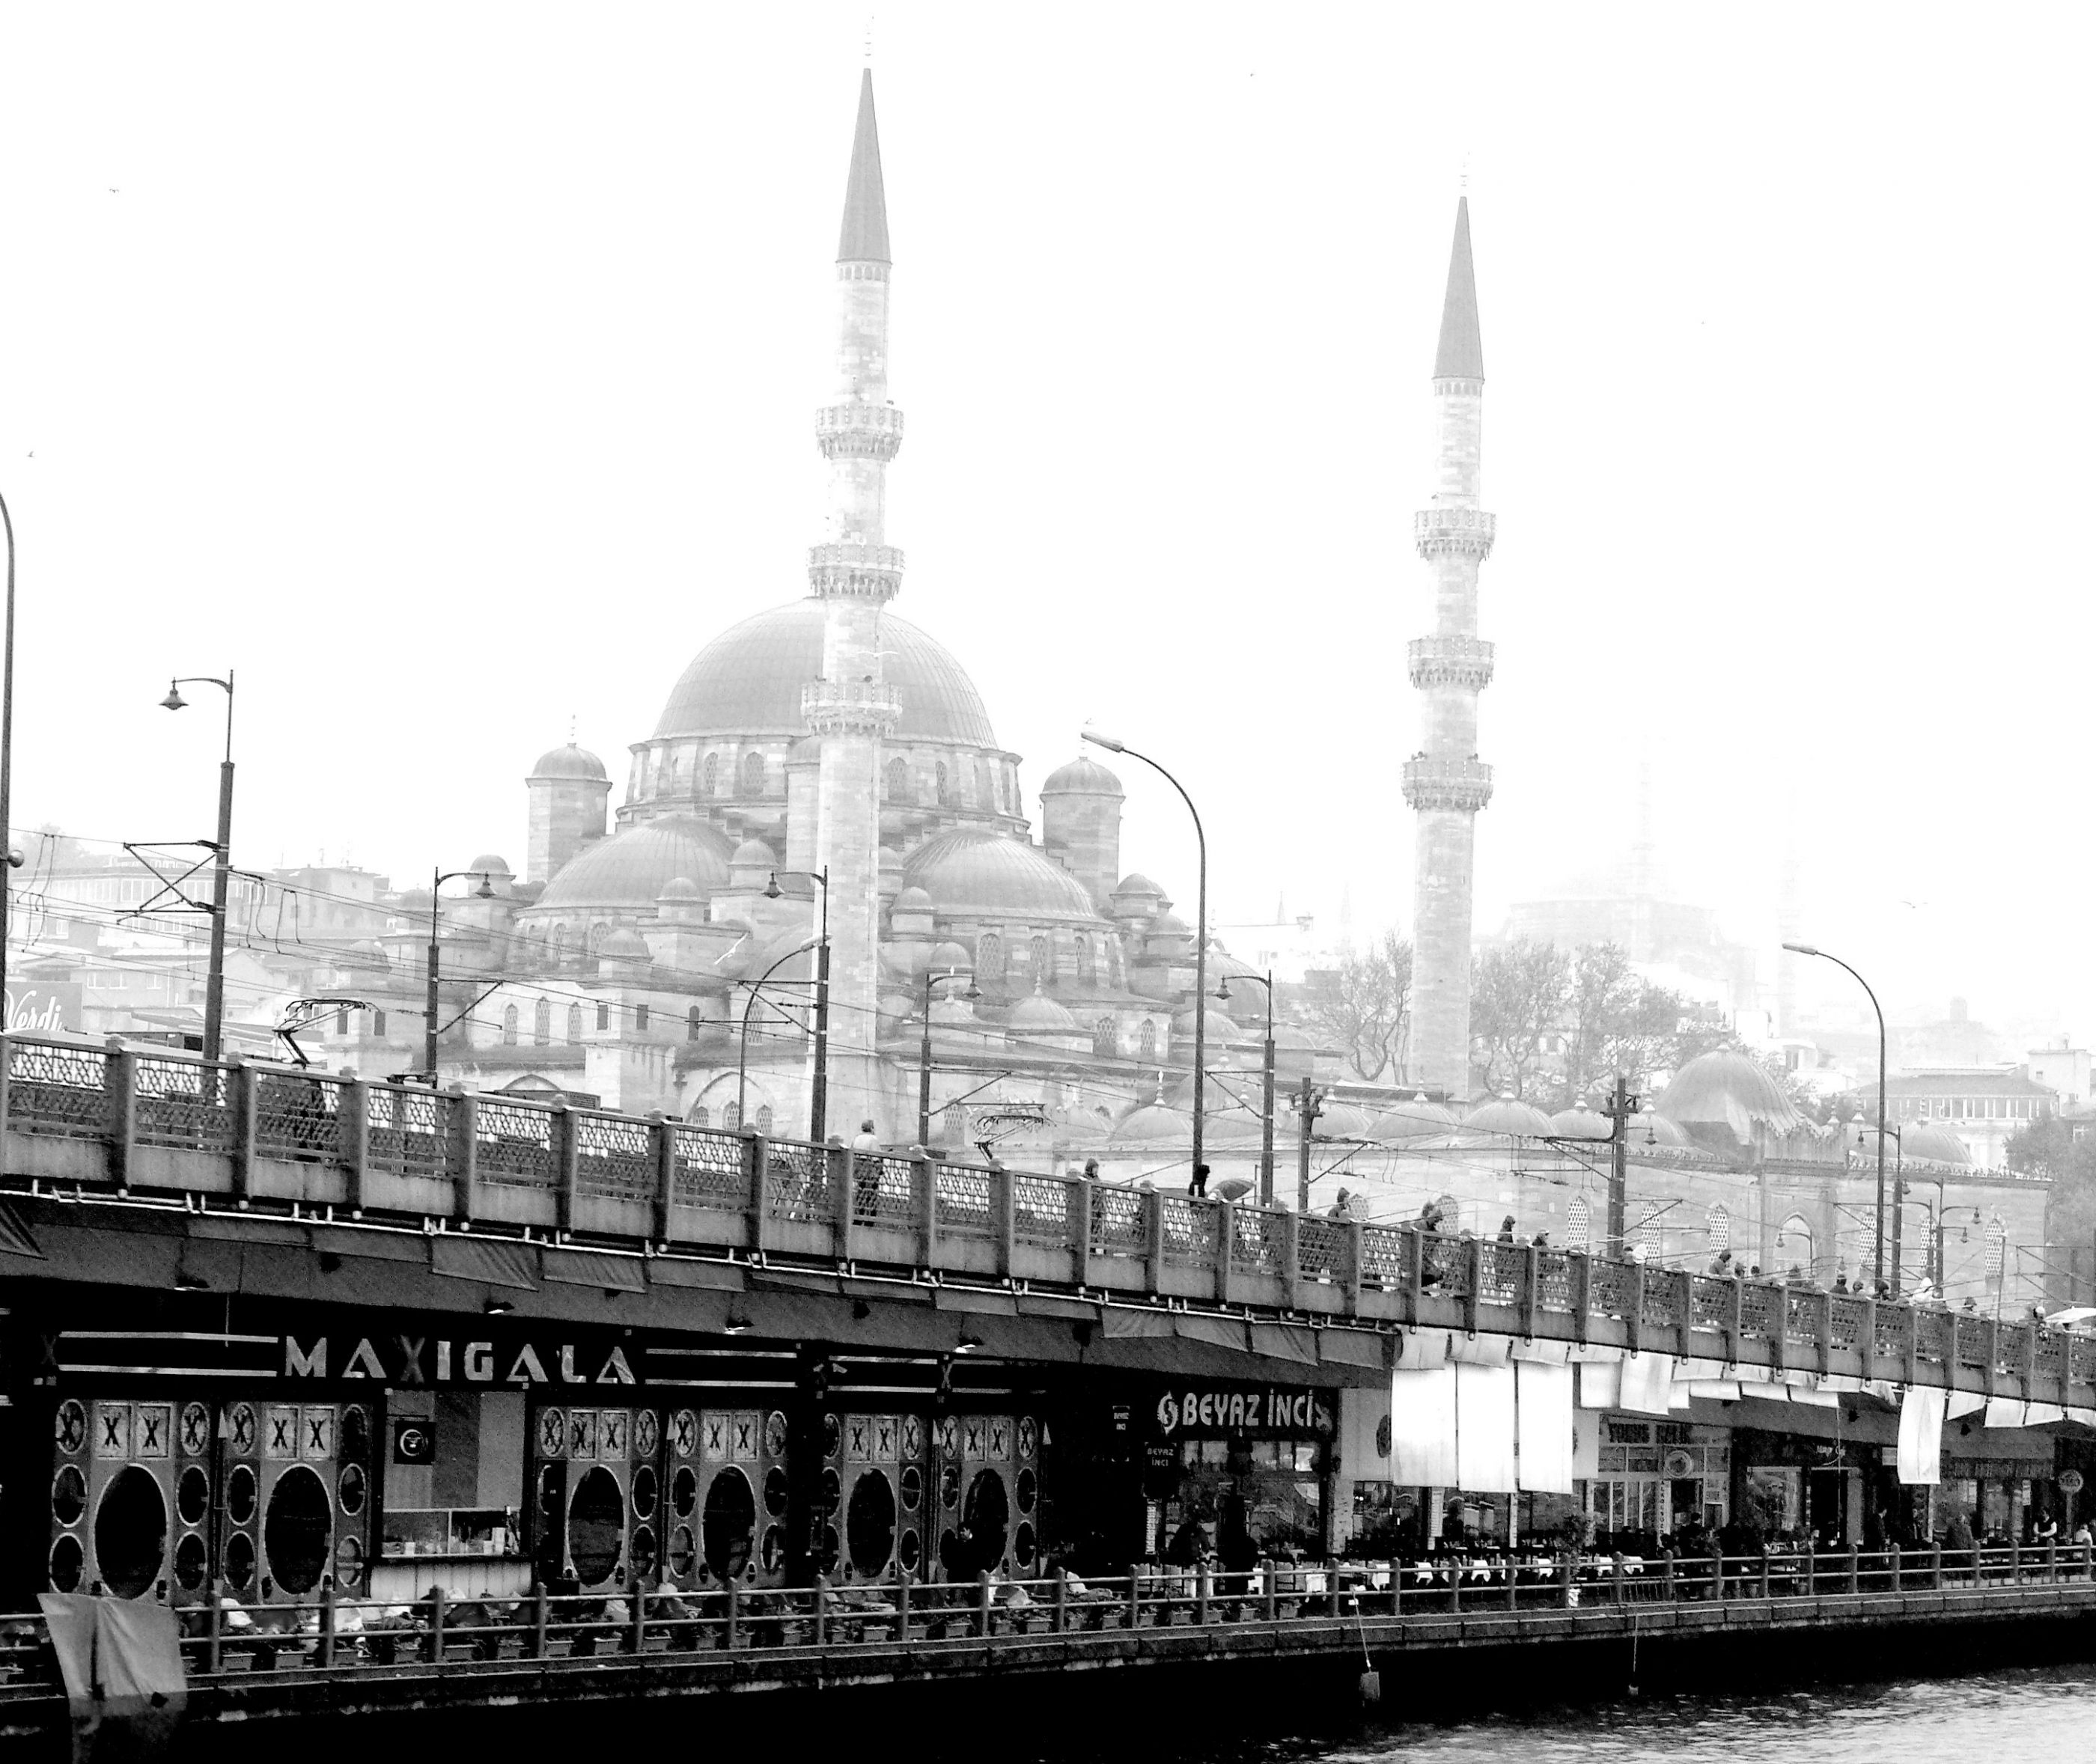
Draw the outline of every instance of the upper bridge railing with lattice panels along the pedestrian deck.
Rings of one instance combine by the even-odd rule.
[[[1549,1247],[853,1152],[564,1102],[163,1048],[0,1037],[13,1182],[312,1209],[425,1232],[935,1270],[2096,1406],[2096,1339]],[[2079,1402],[2077,1402],[2079,1397]]]

